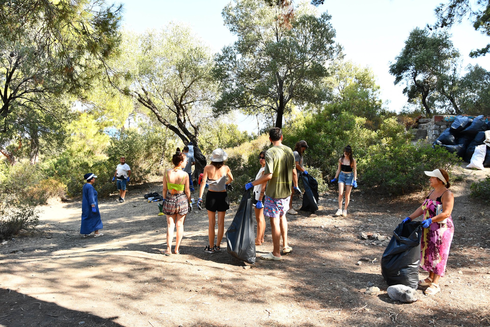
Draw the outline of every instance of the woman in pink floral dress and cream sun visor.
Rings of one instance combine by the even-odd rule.
[[[447,256],[454,234],[451,212],[454,206],[454,195],[449,191],[449,175],[444,169],[425,172],[430,176],[430,186],[434,189],[425,198],[422,205],[413,214],[403,220],[407,222],[423,216],[422,238],[420,240],[420,267],[429,272],[429,277],[419,280],[418,285],[429,286],[427,295],[435,295],[441,291],[439,278],[444,276]],[[437,215],[437,206],[442,210]]]

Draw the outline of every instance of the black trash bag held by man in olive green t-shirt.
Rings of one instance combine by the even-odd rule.
[[[245,191],[237,213],[226,230],[226,251],[235,258],[255,264],[255,231],[250,191]]]

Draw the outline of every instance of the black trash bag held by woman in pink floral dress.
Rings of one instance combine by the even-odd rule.
[[[402,284],[417,289],[420,266],[420,221],[400,223],[381,257],[381,275],[389,286]]]

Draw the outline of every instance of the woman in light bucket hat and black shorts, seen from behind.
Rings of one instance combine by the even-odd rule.
[[[225,160],[228,154],[223,149],[216,149],[211,155],[211,164],[204,167],[202,179],[205,183],[201,183],[199,188],[199,199],[197,207],[201,209],[202,195],[205,185],[209,185],[209,190],[206,193],[206,210],[208,211],[209,227],[209,245],[204,249],[205,252],[215,253],[221,250],[220,244],[224,233],[224,215],[226,210],[230,208],[228,193],[226,190],[231,189],[230,183],[233,181],[230,168],[225,165]],[[226,179],[228,177],[228,179]],[[218,212],[218,235],[215,240],[216,212]]]

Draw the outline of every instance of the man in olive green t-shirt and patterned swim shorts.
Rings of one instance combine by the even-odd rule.
[[[259,179],[245,185],[245,189],[250,189],[254,185],[267,183],[264,198],[264,216],[270,218],[272,230],[272,252],[262,255],[264,260],[281,260],[279,242],[282,234],[283,253],[289,253],[293,249],[288,246],[288,222],[286,212],[289,210],[291,196],[291,185],[297,188],[297,175],[294,161],[294,154],[291,148],[282,144],[282,131],[274,127],[269,131],[269,139],[273,147],[266,151],[266,169],[264,175]]]

